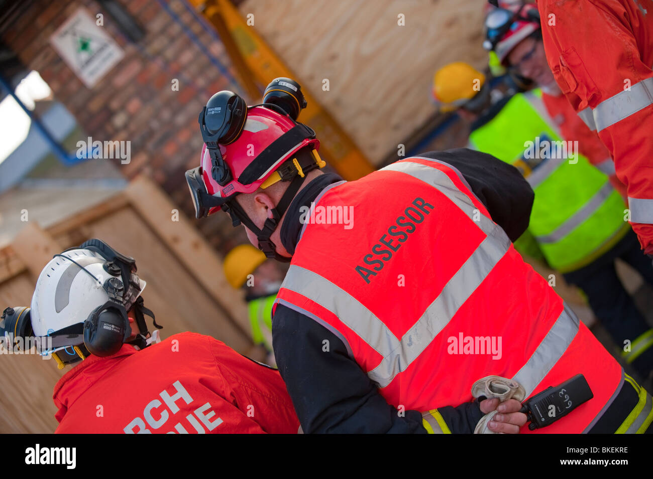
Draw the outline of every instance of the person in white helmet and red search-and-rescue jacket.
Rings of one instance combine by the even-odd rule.
[[[40,339],[59,368],[74,365],[54,388],[56,433],[298,432],[277,370],[210,336],[157,341],[145,284],[132,258],[94,239],[55,255],[31,309],[5,310],[12,343]]]

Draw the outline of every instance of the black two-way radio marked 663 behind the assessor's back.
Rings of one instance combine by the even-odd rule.
[[[594,394],[590,385],[582,374],[577,374],[561,385],[550,386],[524,401],[520,412],[526,414],[530,422],[528,429],[534,431],[550,426],[592,398]]]

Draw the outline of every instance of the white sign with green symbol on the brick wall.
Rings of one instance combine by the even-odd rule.
[[[125,56],[84,8],[77,10],[50,36],[50,43],[88,88]]]

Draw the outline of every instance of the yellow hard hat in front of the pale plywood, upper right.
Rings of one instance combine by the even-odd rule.
[[[479,93],[483,83],[485,75],[468,63],[449,63],[433,77],[433,99],[441,111],[453,111]]]

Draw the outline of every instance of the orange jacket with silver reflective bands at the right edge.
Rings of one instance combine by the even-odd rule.
[[[653,1],[537,0],[556,82],[598,132],[628,188],[633,230],[653,254]]]

